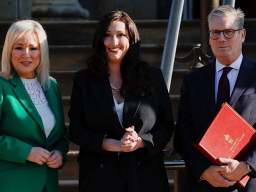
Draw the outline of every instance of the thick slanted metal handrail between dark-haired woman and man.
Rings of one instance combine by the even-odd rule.
[[[170,89],[183,5],[184,0],[172,0],[170,7],[169,21],[161,61],[163,78],[168,91]]]

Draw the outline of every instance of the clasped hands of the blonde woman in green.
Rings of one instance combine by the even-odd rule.
[[[27,158],[31,162],[42,165],[46,163],[51,168],[57,168],[62,164],[63,155],[59,150],[48,151],[42,147],[32,147]]]

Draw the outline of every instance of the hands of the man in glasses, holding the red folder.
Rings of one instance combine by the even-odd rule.
[[[219,158],[226,165],[211,165],[205,169],[201,177],[215,187],[228,187],[248,173],[246,163],[235,159]]]

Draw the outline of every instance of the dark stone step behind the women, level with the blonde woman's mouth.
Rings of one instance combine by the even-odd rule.
[[[178,44],[177,57],[188,54],[193,45]],[[160,67],[163,44],[141,44],[141,59],[152,66]],[[52,45],[49,46],[51,70],[80,70],[86,67],[86,60],[92,55],[90,45]],[[175,63],[175,68],[185,68],[189,63]]]

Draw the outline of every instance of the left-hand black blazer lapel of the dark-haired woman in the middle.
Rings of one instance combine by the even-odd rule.
[[[118,131],[124,131],[114,106],[113,95],[108,79],[91,79],[91,91],[101,110],[106,114],[106,119]]]

